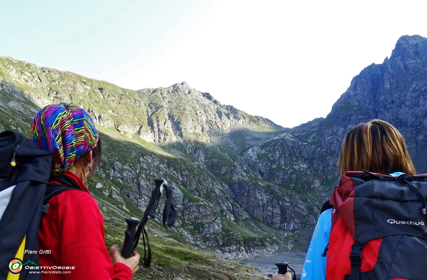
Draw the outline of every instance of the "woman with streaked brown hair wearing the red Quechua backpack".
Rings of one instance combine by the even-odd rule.
[[[389,175],[376,177],[363,169]],[[376,119],[348,131],[338,160],[342,177],[330,198],[332,214],[326,217],[325,211],[318,221],[331,219],[331,231],[325,231],[329,244],[323,240],[325,250],[319,250],[312,239],[304,279],[318,279],[312,264],[322,262],[322,256],[327,256],[321,266],[327,280],[427,279],[421,263],[427,254],[421,213],[427,207],[427,185],[424,178],[407,179],[416,182],[413,188],[403,177],[393,182],[402,172],[416,174],[404,137],[393,125]]]

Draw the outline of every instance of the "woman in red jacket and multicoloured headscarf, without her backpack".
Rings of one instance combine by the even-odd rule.
[[[53,157],[52,184],[72,187],[48,201],[41,219],[38,249],[42,279],[125,280],[138,270],[139,254],[125,259],[116,245],[110,256],[104,242],[104,221],[84,184],[101,157],[101,140],[94,122],[71,103],[48,105],[35,116],[30,139]],[[69,268],[57,274],[53,268]],[[61,271],[59,271],[61,272]]]

